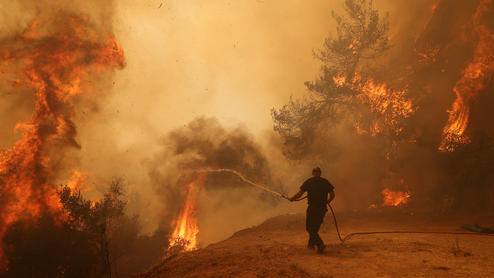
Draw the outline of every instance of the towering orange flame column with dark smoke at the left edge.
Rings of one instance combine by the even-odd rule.
[[[59,13],[43,23],[31,22],[0,46],[6,77],[18,87],[31,88],[35,98],[31,119],[15,126],[22,139],[0,150],[0,234],[13,220],[58,213],[51,184],[56,169],[47,151],[54,146],[80,148],[74,139],[71,97],[88,87],[90,73],[124,66],[124,52],[115,37],[110,34],[100,41],[89,26],[86,18]],[[74,172],[72,185],[79,186],[83,178],[82,172]]]

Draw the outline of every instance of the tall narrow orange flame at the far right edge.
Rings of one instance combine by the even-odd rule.
[[[463,76],[453,88],[456,100],[453,109],[448,111],[450,117],[443,130],[443,140],[439,147],[442,151],[453,151],[454,143],[467,144],[469,137],[465,134],[470,114],[470,102],[486,86],[494,73],[494,32],[483,23],[482,16],[489,11],[492,0],[482,0],[477,12],[472,16],[472,35],[479,41],[474,49],[472,60],[463,70]],[[451,144],[453,142],[453,144]]]

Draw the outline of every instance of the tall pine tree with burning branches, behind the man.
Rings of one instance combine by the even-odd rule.
[[[378,143],[383,156],[396,141],[409,137],[403,127],[420,92],[411,92],[406,84],[389,86],[381,76],[385,68],[380,60],[390,48],[385,36],[388,13],[379,18],[372,1],[366,0],[347,0],[344,8],[348,19],[332,12],[336,37],[326,39],[324,49],[313,51],[324,62],[319,78],[305,82],[308,93],[303,99],[290,97],[282,109],[271,110],[288,159],[314,153],[334,157],[338,134],[377,137],[383,142]]]

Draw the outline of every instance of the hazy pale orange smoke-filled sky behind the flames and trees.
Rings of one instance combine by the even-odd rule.
[[[66,159],[91,175],[91,184],[126,174],[142,194],[153,190],[147,167],[163,147],[161,138],[199,116],[216,117],[231,130],[240,125],[259,144],[270,142],[270,109],[281,108],[290,94],[301,97],[303,83],[318,75],[321,63],[311,51],[335,30],[331,10],[342,14],[342,3],[12,0],[1,4],[0,31],[21,31],[36,16],[63,9],[87,14],[96,30],[115,34],[126,66],[76,101],[81,149]],[[391,43],[399,44],[419,34],[435,3],[376,0],[374,7],[381,16],[390,12],[388,35],[397,32]],[[8,88],[0,93],[0,147],[9,147],[20,139],[14,124],[30,117],[33,101]],[[276,145],[266,155],[283,159]]]

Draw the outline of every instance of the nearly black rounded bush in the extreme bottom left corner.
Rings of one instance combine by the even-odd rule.
[[[18,220],[2,236],[5,278],[92,278],[101,273],[84,232],[44,214],[33,225]]]

